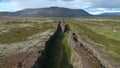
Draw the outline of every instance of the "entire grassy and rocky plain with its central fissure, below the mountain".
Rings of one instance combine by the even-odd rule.
[[[0,68],[120,68],[119,19],[0,17]]]

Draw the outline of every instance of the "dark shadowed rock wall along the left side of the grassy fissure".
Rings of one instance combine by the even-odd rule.
[[[56,34],[57,34],[58,30],[63,29],[61,27],[61,24],[62,24],[62,22],[60,21],[57,24],[55,32],[53,33],[53,35],[51,35],[50,38],[45,42],[45,49],[44,49],[43,53],[39,56],[39,58],[35,62],[35,64],[32,66],[32,68],[43,68],[43,66],[45,65],[44,60],[45,60],[45,57],[46,57],[47,49],[48,49],[50,43],[52,43],[52,41],[56,38]],[[64,29],[63,29],[63,32],[64,32]]]

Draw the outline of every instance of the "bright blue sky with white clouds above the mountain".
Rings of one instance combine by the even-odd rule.
[[[0,11],[14,12],[53,6],[84,9],[91,14],[120,12],[120,0],[0,0]]]

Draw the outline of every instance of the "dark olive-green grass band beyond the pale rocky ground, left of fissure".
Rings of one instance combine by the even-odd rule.
[[[17,23],[18,24],[18,23]],[[10,28],[8,32],[0,34],[0,44],[10,44],[25,41],[28,37],[49,29],[53,29],[54,23],[34,23],[34,27]]]

